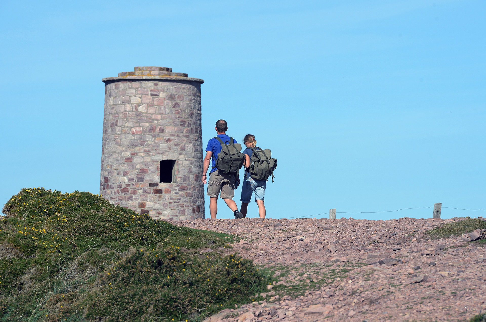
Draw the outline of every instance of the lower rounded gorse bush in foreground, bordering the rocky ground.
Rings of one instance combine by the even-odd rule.
[[[227,256],[187,260],[175,248],[135,251],[100,279],[98,290],[87,301],[86,317],[106,321],[170,317],[178,321],[200,309],[221,310],[247,301],[266,282],[246,259]],[[118,313],[116,317],[113,312]]]

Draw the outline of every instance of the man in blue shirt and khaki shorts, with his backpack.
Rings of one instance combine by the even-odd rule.
[[[238,211],[236,202],[233,200],[235,189],[240,184],[238,177],[239,170],[243,165],[244,157],[243,153],[240,152],[241,145],[226,135],[228,126],[225,120],[218,120],[214,129],[218,135],[209,140],[208,146],[206,147],[202,179],[203,183],[206,184],[208,181],[206,173],[211,162],[212,168],[209,171],[207,193],[209,196],[211,218],[216,218],[218,212],[218,195],[221,193],[221,198],[225,200],[226,205],[233,211],[235,219],[241,219],[243,218],[243,213]]]

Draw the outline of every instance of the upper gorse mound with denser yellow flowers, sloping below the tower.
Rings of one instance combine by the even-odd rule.
[[[205,242],[226,245],[211,234],[155,221],[91,193],[22,189],[2,212],[9,216],[0,222],[0,251],[18,255],[0,262],[4,272],[0,294],[6,295],[11,290],[8,286],[27,266],[34,265],[39,273],[47,274],[47,266],[79,256],[94,245],[118,252],[159,243],[187,249],[200,248]]]

